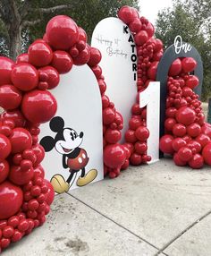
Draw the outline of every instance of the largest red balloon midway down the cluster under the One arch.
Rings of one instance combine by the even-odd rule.
[[[184,125],[192,124],[196,119],[195,111],[190,107],[181,107],[176,114],[176,120],[178,123]]]

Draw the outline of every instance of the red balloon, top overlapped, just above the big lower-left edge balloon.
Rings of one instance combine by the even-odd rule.
[[[28,170],[22,170],[21,166],[12,166],[9,174],[9,179],[12,183],[17,185],[24,185],[29,183],[33,178],[34,170],[29,168]]]

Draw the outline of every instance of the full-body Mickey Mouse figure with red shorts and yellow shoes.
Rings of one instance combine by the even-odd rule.
[[[69,168],[70,175],[65,181],[63,175],[54,175],[51,183],[57,193],[68,192],[72,183],[73,176],[81,170],[81,175],[77,180],[78,186],[84,186],[91,183],[97,177],[97,170],[91,169],[87,174],[85,166],[89,162],[89,157],[85,149],[81,149],[80,144],[83,141],[83,132],[78,133],[72,128],[64,128],[63,118],[55,116],[50,121],[50,129],[56,132],[55,139],[51,136],[42,138],[40,144],[46,152],[55,150],[63,155],[63,168]],[[72,181],[73,180],[73,181]]]

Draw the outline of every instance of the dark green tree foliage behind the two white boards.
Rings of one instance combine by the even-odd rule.
[[[1,2],[3,1],[0,0],[0,4]],[[122,5],[130,5],[139,8],[138,0],[15,0],[15,3],[18,9],[21,9],[24,4],[30,5],[30,9],[24,17],[24,20],[40,20],[38,24],[27,26],[21,30],[22,52],[27,50],[33,40],[43,37],[47,21],[55,15],[66,14],[72,17],[80,27],[86,30],[90,41],[92,31],[98,21],[101,21],[105,17],[116,16],[118,9]],[[50,13],[43,13],[41,9],[63,4],[68,5],[63,11],[56,10]],[[9,55],[8,44],[6,25],[0,19],[0,55]]]

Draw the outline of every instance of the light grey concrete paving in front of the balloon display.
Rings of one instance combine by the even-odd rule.
[[[2,255],[209,256],[211,168],[162,159],[55,197],[51,214]]]

